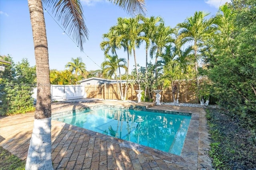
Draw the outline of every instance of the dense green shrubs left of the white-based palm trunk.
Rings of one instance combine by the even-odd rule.
[[[0,115],[33,111],[31,95],[36,87],[36,68],[30,66],[28,59],[14,64],[9,55],[3,58],[12,64],[0,72]]]

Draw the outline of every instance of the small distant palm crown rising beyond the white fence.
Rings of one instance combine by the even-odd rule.
[[[86,66],[82,61],[82,57],[77,57],[76,59],[71,58],[71,62],[68,62],[65,65],[65,68],[68,68],[68,70],[71,73],[74,73],[76,77],[79,74],[79,75],[82,75],[84,78],[86,78],[87,71],[86,71]]]

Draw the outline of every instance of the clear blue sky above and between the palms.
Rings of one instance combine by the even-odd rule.
[[[161,16],[167,26],[175,27],[177,23],[183,22],[196,11],[210,12],[210,16],[215,15],[220,4],[227,1],[230,2],[230,0],[146,0],[146,16]],[[65,64],[72,57],[82,57],[86,70],[100,69],[99,66],[104,61],[104,52],[100,49],[102,34],[107,33],[109,28],[116,24],[118,17],[130,17],[124,10],[106,0],[81,0],[81,4],[89,30],[84,53],[66,34],[63,34],[62,28],[51,16],[44,12],[50,69],[64,70]],[[50,13],[49,9],[46,10]],[[140,66],[145,66],[144,49],[142,45],[136,50],[136,58]],[[8,54],[15,63],[27,58],[31,66],[35,65],[32,28],[26,0],[0,0],[0,55]],[[127,57],[123,50],[118,51],[118,56]],[[130,67],[134,68],[133,65],[132,56]]]

